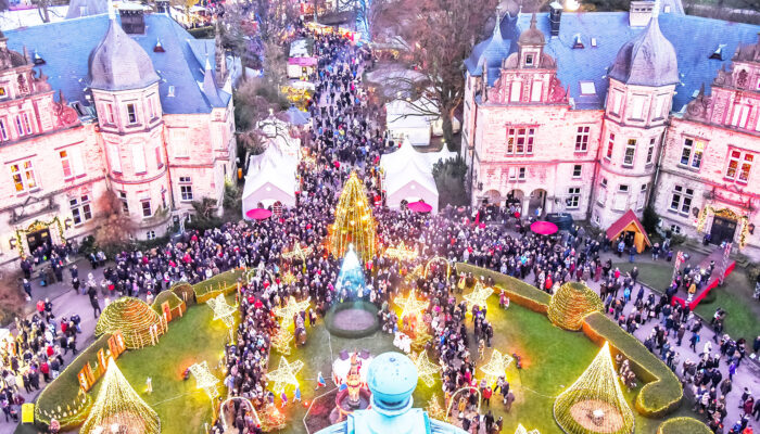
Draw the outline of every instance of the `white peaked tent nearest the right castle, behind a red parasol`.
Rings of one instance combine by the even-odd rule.
[[[438,155],[439,153],[432,153]],[[411,148],[404,140],[398,151],[380,158],[383,170],[383,189],[385,203],[391,208],[400,208],[403,201],[407,203],[422,200],[438,213],[438,188],[433,179],[429,158]]]

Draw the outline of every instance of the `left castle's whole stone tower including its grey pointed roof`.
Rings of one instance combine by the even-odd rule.
[[[159,75],[145,51],[124,30],[109,3],[111,23],[90,53],[89,87],[98,111],[111,190],[137,227],[138,238],[161,235],[172,207],[162,135]],[[141,15],[129,17],[130,31]]]

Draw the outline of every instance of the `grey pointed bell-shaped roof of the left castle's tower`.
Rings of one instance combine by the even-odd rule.
[[[109,2],[111,23],[103,40],[90,53],[89,85],[100,90],[141,89],[159,81],[148,53],[125,31]]]

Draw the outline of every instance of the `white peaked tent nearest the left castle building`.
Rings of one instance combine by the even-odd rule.
[[[299,161],[270,143],[263,153],[249,159],[243,188],[243,218],[245,213],[258,207],[269,207],[276,202],[295,206],[295,179]]]

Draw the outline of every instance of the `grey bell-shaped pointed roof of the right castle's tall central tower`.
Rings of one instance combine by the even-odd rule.
[[[659,87],[680,81],[675,49],[660,31],[657,15],[649,20],[644,31],[618,51],[609,76],[637,86]]]

